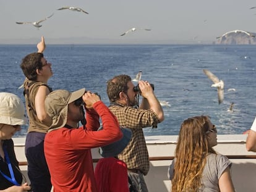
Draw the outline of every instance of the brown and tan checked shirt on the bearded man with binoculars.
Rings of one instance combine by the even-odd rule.
[[[160,123],[158,115],[151,109],[135,109],[121,104],[110,106],[109,109],[116,115],[120,126],[132,130],[130,142],[118,158],[126,162],[127,169],[138,169],[143,175],[147,175],[148,149],[142,128]]]

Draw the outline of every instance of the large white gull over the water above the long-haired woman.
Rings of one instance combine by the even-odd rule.
[[[211,81],[213,81],[214,84],[211,86],[216,87],[218,89],[218,101],[219,101],[219,104],[221,104],[221,102],[223,102],[223,99],[224,99],[223,80],[219,80],[219,78],[213,75],[213,73],[211,73],[210,70],[203,69],[203,72],[205,73],[205,75],[207,75],[208,78],[210,78]]]

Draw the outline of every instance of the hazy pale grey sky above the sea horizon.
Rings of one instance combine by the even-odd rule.
[[[81,7],[89,14],[56,10]],[[211,43],[231,30],[256,32],[256,1],[247,0],[1,0],[0,44]],[[54,13],[39,30],[31,24]],[[120,36],[129,28],[149,28]]]

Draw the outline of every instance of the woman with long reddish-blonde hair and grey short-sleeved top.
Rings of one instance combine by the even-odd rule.
[[[234,192],[228,157],[217,154],[217,130],[207,116],[184,120],[176,154],[169,166],[172,192]]]

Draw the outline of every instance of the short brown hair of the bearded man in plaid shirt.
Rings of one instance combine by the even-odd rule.
[[[131,81],[129,75],[117,75],[107,82],[107,94],[110,102],[114,102],[119,99],[119,93],[123,91],[127,93],[129,89],[127,83]]]

